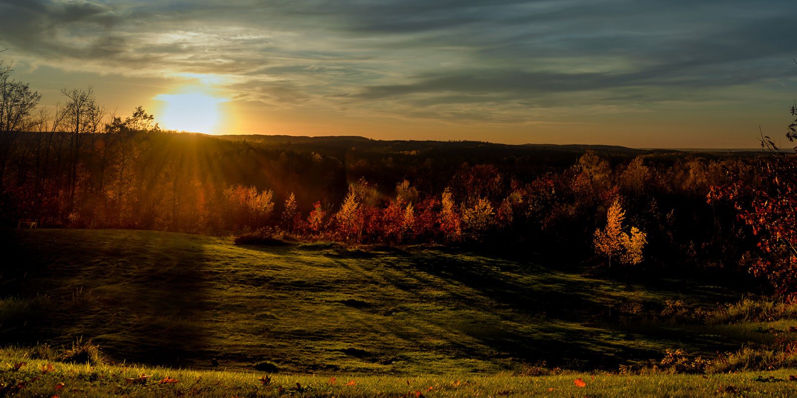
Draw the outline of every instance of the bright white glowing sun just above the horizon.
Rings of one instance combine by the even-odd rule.
[[[200,93],[159,94],[163,101],[158,121],[165,130],[217,133],[222,123],[221,104],[229,100]]]

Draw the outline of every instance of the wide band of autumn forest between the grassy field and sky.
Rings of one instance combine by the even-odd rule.
[[[760,152],[162,131],[92,89],[40,107],[0,72],[0,220],[350,245],[448,245],[797,286],[795,162]],[[795,109],[792,108],[792,114]],[[787,127],[794,139],[795,124]]]

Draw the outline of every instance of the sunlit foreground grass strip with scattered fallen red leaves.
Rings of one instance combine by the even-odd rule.
[[[21,365],[14,370],[15,365]],[[52,367],[49,368],[48,364]],[[787,370],[701,375],[618,375],[567,372],[556,376],[518,377],[509,373],[477,375],[450,373],[439,376],[271,375],[214,370],[147,368],[119,365],[68,365],[34,360],[18,349],[0,351],[0,394],[7,388],[13,396],[58,395],[128,397],[723,397],[794,396],[797,381],[789,381]],[[145,384],[128,379],[150,376]],[[166,378],[173,383],[160,384]],[[586,383],[575,385],[576,379]],[[349,384],[354,380],[354,385]],[[301,390],[298,390],[298,386]],[[20,388],[21,387],[21,388]]]

